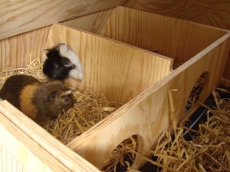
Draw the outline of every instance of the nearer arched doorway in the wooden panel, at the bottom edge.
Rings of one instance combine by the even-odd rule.
[[[131,167],[136,154],[133,151],[138,151],[139,141],[137,135],[132,135],[121,142],[109,155],[105,161],[102,171],[105,172],[125,172],[128,167]]]

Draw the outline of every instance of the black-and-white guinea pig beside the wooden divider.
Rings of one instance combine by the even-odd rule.
[[[43,63],[43,73],[47,77],[62,81],[69,77],[82,80],[81,61],[69,45],[60,43],[46,49],[45,54],[47,58]]]

